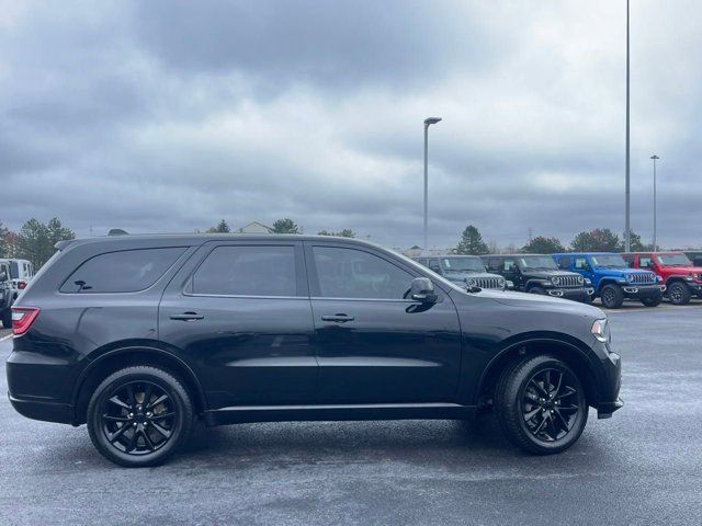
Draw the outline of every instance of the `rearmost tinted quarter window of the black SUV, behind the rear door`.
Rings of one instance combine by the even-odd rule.
[[[137,249],[95,255],[66,279],[61,293],[137,293],[154,285],[185,248]]]

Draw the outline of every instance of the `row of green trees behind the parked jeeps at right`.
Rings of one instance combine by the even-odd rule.
[[[653,250],[653,245],[644,244],[641,236],[631,232],[632,252]],[[552,254],[554,252],[623,252],[624,240],[609,228],[596,228],[590,231],[576,233],[566,248],[558,238],[536,236],[521,248],[509,248],[508,252]],[[500,249],[488,244],[483,240],[480,231],[474,225],[465,227],[461,235],[458,245],[454,249],[456,254],[483,255],[500,252]]]

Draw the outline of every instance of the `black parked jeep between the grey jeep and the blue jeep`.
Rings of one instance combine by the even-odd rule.
[[[590,302],[595,289],[589,279],[575,272],[562,271],[546,254],[486,255],[490,272],[512,282],[514,290],[543,294]]]

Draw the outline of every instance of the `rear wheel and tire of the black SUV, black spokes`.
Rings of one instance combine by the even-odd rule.
[[[150,405],[144,404],[146,397]],[[90,439],[103,457],[137,468],[165,462],[188,442],[195,419],[180,380],[141,365],[105,378],[90,399],[87,420]]]

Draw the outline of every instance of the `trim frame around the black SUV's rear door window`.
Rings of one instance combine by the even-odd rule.
[[[193,291],[193,277],[200,270],[202,264],[210,258],[216,249],[220,247],[290,247],[293,249],[293,261],[295,263],[295,296],[265,296],[265,295],[250,295],[250,294],[205,294]],[[189,273],[185,282],[181,288],[183,296],[193,298],[241,298],[241,299],[309,299],[309,290],[306,286],[306,268],[305,259],[302,253],[302,243],[299,241],[210,241],[203,244],[203,254],[200,261],[195,264],[194,268]]]

